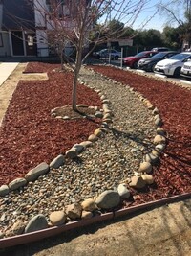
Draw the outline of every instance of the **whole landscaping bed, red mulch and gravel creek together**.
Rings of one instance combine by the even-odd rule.
[[[53,111],[56,111],[58,117],[60,114],[72,113],[71,107],[57,108],[71,104],[71,72],[60,72],[58,65],[31,63],[25,72],[38,73],[39,70],[48,70],[49,81],[19,82],[0,130],[2,184],[7,184],[15,177],[24,176],[43,161],[49,164],[55,156],[65,154],[75,143],[84,142],[93,132],[98,132],[96,134],[99,135],[94,146],[83,151],[79,157],[69,160],[66,152],[66,164],[61,165],[59,169],[52,168],[49,174],[40,176],[35,181],[29,179],[27,186],[21,186],[15,191],[12,189],[8,196],[1,198],[1,224],[6,237],[12,235],[12,222],[17,221],[18,225],[22,221],[22,232],[25,229],[25,233],[28,233],[31,221],[36,221],[40,214],[43,214],[43,220],[46,220],[46,227],[47,221],[52,219],[52,214],[61,213],[61,226],[67,221],[79,220],[84,214],[80,205],[84,204],[85,198],[91,198],[91,203],[94,204],[94,210],[91,210],[91,213],[88,210],[88,218],[97,215],[104,218],[102,214],[106,211],[112,210],[117,216],[120,215],[120,211],[117,211],[120,208],[131,211],[132,207],[129,206],[140,204],[145,207],[145,202],[190,192],[190,92],[168,82],[148,79],[109,66],[92,68],[113,81],[83,69],[80,80],[94,86],[97,92],[78,85],[77,102],[100,108],[107,105],[109,115],[103,116],[102,131],[96,129],[100,128],[100,118],[79,118],[80,116],[75,114],[76,120],[60,120],[56,116],[53,117]],[[116,81],[122,82],[123,85]],[[125,88],[125,85],[136,89],[143,97],[129,87]],[[149,105],[154,104],[152,108],[145,106],[145,98],[150,101]],[[164,139],[161,144],[164,143],[165,147],[167,142],[167,145],[158,157],[158,162],[154,163],[152,175],[149,175],[152,182],[147,185],[144,182],[140,189],[131,185],[129,180],[133,175],[139,178],[139,175],[136,175],[139,163],[145,159],[145,154],[155,149],[154,136],[156,128],[160,125],[155,127],[156,114],[152,113],[153,107],[158,107],[166,131],[166,138],[161,136],[162,140]],[[92,108],[88,114],[92,115]],[[47,164],[46,168],[49,169]],[[148,171],[150,172],[151,170]],[[125,189],[122,191],[126,193],[124,198],[120,198],[117,192],[120,186],[122,190]],[[103,194],[104,197],[110,194],[116,201],[109,205],[115,206],[103,206]],[[108,200],[106,201],[108,203]],[[65,211],[76,206],[75,203],[80,208],[80,213],[76,218],[71,218],[67,213],[66,218]],[[5,209],[4,205],[7,204],[10,207]],[[32,220],[34,215],[36,220]],[[42,215],[40,217],[42,218]],[[112,213],[111,217],[113,218]],[[52,224],[57,225],[54,221]]]

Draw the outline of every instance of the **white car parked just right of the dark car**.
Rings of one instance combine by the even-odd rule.
[[[180,76],[180,69],[184,62],[191,60],[190,52],[182,52],[174,55],[171,58],[159,61],[154,69],[155,73],[163,74],[166,76],[178,77]]]

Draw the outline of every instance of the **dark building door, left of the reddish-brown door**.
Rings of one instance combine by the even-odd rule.
[[[24,44],[22,31],[11,32],[13,56],[24,56]]]

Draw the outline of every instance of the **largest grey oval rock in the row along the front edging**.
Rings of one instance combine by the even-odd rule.
[[[120,196],[117,191],[106,190],[96,198],[96,205],[101,209],[111,209],[120,202]]]

